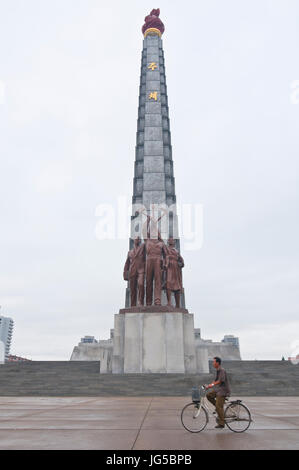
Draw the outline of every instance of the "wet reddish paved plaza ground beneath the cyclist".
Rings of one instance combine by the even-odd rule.
[[[2,449],[299,449],[298,397],[244,397],[246,433],[186,431],[189,397],[0,397]]]

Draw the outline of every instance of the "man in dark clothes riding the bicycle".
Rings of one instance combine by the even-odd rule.
[[[216,369],[215,381],[209,385],[205,385],[205,387],[213,388],[214,390],[208,392],[206,397],[216,407],[219,419],[215,428],[223,429],[225,426],[223,405],[225,402],[225,397],[230,396],[230,386],[226,371],[223,369],[223,367],[221,367],[220,357],[214,357],[213,367]]]

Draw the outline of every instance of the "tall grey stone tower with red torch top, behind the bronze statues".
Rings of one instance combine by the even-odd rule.
[[[136,236],[141,238],[144,236],[146,223],[144,214],[147,212],[156,220],[162,215],[159,222],[161,236],[166,241],[169,237],[173,237],[175,247],[180,252],[165,62],[161,39],[164,25],[159,14],[159,10],[152,10],[151,14],[145,18],[145,24],[142,27],[144,40],[129,249],[133,248]],[[144,209],[142,215],[140,215],[140,207]],[[163,208],[166,211],[161,214]],[[166,303],[164,290],[162,305]],[[174,305],[174,299],[172,303]],[[125,305],[131,306],[129,283],[126,289]],[[181,290],[180,305],[185,307],[184,289]]]

